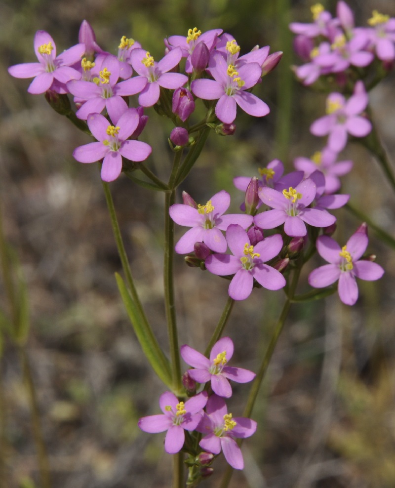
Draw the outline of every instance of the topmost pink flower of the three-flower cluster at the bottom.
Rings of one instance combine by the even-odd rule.
[[[233,341],[230,337],[222,337],[214,344],[209,359],[187,344],[180,348],[182,359],[195,368],[188,370],[190,377],[198,383],[211,381],[213,392],[225,398],[232,396],[232,387],[228,380],[248,383],[255,378],[255,373],[248,369],[225,366],[232,358],[233,351]]]

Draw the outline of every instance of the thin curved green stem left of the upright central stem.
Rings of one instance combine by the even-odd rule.
[[[161,347],[159,346],[157,338],[155,337],[154,332],[151,328],[151,325],[148,322],[147,316],[145,315],[143,306],[141,304],[141,301],[140,301],[140,298],[138,296],[136,287],[134,285],[134,280],[133,280],[132,273],[130,270],[129,261],[127,259],[125,247],[123,245],[122,236],[121,236],[119,225],[118,225],[117,214],[116,214],[115,207],[114,207],[113,197],[112,197],[111,191],[110,191],[110,186],[108,183],[106,183],[104,181],[102,183],[103,183],[104,195],[106,197],[107,207],[108,207],[108,210],[110,213],[110,220],[111,220],[111,225],[113,228],[114,238],[115,238],[115,241],[117,244],[119,258],[120,258],[121,263],[122,263],[122,269],[123,269],[123,272],[125,274],[126,283],[127,283],[127,287],[129,289],[129,292],[130,292],[130,296],[131,296],[131,298],[135,304],[135,307],[136,307],[136,310],[138,313],[139,324],[142,326],[142,328],[144,330],[145,340],[147,341],[147,343],[150,344],[150,348],[155,351],[156,358],[157,358],[159,364],[161,365],[161,367],[163,368],[163,371],[168,372],[169,371],[169,364],[168,364],[167,358],[165,357]]]

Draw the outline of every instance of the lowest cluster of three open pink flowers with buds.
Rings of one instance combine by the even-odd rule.
[[[162,414],[149,415],[139,420],[141,430],[149,433],[167,431],[164,449],[169,454],[179,452],[185,446],[185,430],[203,434],[199,447],[203,452],[195,452],[184,447],[195,458],[207,459],[210,463],[213,456],[202,454],[224,453],[225,459],[235,469],[243,469],[243,456],[235,439],[252,436],[256,430],[256,422],[246,417],[233,417],[228,413],[225,398],[230,398],[232,388],[229,380],[237,383],[247,383],[254,379],[255,373],[247,369],[227,366],[232,358],[234,345],[229,337],[222,337],[211,349],[208,358],[188,345],[181,347],[181,357],[193,366],[187,371],[189,384],[206,384],[200,393],[189,400],[180,401],[173,393],[165,392],[159,398]],[[212,393],[208,394],[211,385]],[[203,464],[201,462],[201,464]]]

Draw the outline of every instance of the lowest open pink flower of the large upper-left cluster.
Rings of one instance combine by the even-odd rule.
[[[73,156],[79,163],[95,163],[103,159],[101,178],[114,181],[122,170],[122,156],[130,161],[144,161],[151,154],[151,146],[145,142],[128,140],[138,129],[140,116],[136,109],[128,109],[118,120],[117,126],[110,125],[100,114],[91,114],[87,120],[89,130],[100,142],[79,146]]]

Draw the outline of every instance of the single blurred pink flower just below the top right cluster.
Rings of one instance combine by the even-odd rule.
[[[372,124],[360,115],[368,102],[362,81],[356,82],[354,94],[347,101],[341,93],[330,93],[326,99],[327,115],[312,123],[311,133],[329,135],[329,148],[339,153],[347,144],[348,134],[365,137],[372,130]]]

